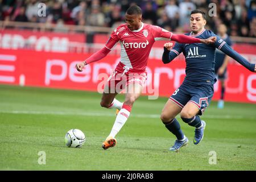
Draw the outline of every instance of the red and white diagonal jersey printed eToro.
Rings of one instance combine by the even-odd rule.
[[[172,32],[161,27],[142,23],[141,28],[131,31],[126,24],[115,28],[105,47],[112,49],[116,43],[121,44],[121,61],[117,70],[123,72],[145,72],[150,50],[156,40],[171,39]],[[123,68],[125,67],[125,68]]]

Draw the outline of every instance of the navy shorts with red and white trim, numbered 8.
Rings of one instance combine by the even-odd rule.
[[[213,85],[181,84],[169,98],[175,104],[183,108],[188,102],[195,104],[199,109],[199,115],[209,106],[213,97]]]

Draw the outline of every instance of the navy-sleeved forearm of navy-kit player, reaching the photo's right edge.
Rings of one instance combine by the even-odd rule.
[[[249,69],[251,72],[256,72],[256,65],[249,63],[238,52],[234,51],[234,49],[232,49],[232,47],[230,47],[228,44],[225,43],[220,50],[224,52],[226,55],[232,57],[238,63],[242,64],[243,67]]]

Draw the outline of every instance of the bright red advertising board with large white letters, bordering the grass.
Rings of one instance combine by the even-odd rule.
[[[78,53],[0,49],[0,84],[102,92],[102,86],[109,76],[110,69],[115,67],[119,57],[106,56],[101,61],[88,65],[83,72],[77,72],[75,64],[89,56]],[[230,64],[228,71],[225,100],[256,103],[256,73],[238,64]],[[147,72],[147,86],[143,93],[168,97],[184,79],[185,62],[175,60],[164,65],[160,60],[150,59]],[[219,96],[220,87],[215,84],[213,100],[217,100]]]

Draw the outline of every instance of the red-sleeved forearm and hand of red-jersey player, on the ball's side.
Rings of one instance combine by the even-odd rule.
[[[81,72],[86,64],[90,64],[95,61],[101,60],[103,57],[108,55],[109,52],[110,52],[110,49],[106,47],[100,49],[100,51],[95,52],[92,56],[88,57],[88,59],[86,59],[85,61],[82,61],[82,63],[76,64],[77,71]]]

